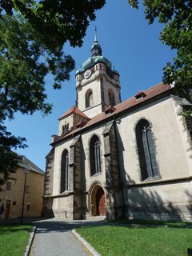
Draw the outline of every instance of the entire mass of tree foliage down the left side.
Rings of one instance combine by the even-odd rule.
[[[82,46],[82,38],[94,11],[105,0],[2,0],[0,2],[0,173],[8,178],[21,158],[12,152],[24,148],[25,138],[14,137],[4,126],[14,113],[49,114],[46,74],[54,77],[54,89],[70,79],[74,60],[63,52],[65,42]],[[16,14],[19,14],[18,16]]]

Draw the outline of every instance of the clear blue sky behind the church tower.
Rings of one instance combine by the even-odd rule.
[[[97,11],[97,18],[90,22],[81,48],[66,44],[66,54],[71,54],[76,68],[70,81],[64,82],[62,90],[51,88],[52,80],[46,78],[48,101],[54,104],[52,114],[42,117],[16,114],[14,121],[6,122],[7,129],[14,135],[26,137],[28,147],[17,150],[42,170],[46,167],[46,154],[51,147],[51,135],[58,134],[58,118],[62,116],[76,99],[75,71],[90,58],[90,48],[94,42],[94,27],[98,28],[98,42],[102,54],[112,62],[120,74],[122,101],[146,90],[162,81],[162,68],[174,58],[174,51],[159,40],[162,25],[155,22],[148,25],[143,7],[134,10],[126,0],[107,0],[106,6]]]

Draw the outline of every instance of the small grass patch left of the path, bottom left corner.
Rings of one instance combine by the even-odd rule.
[[[31,225],[0,225],[0,255],[22,256],[29,242]]]

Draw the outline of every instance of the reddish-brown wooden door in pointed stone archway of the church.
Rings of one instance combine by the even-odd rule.
[[[92,216],[106,215],[106,194],[99,184],[90,191],[90,213]]]

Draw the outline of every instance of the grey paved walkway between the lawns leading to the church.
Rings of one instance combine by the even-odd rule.
[[[78,226],[103,225],[101,218],[86,221],[66,221],[62,218],[34,222],[37,231],[30,256],[86,256],[88,252],[71,230]]]

